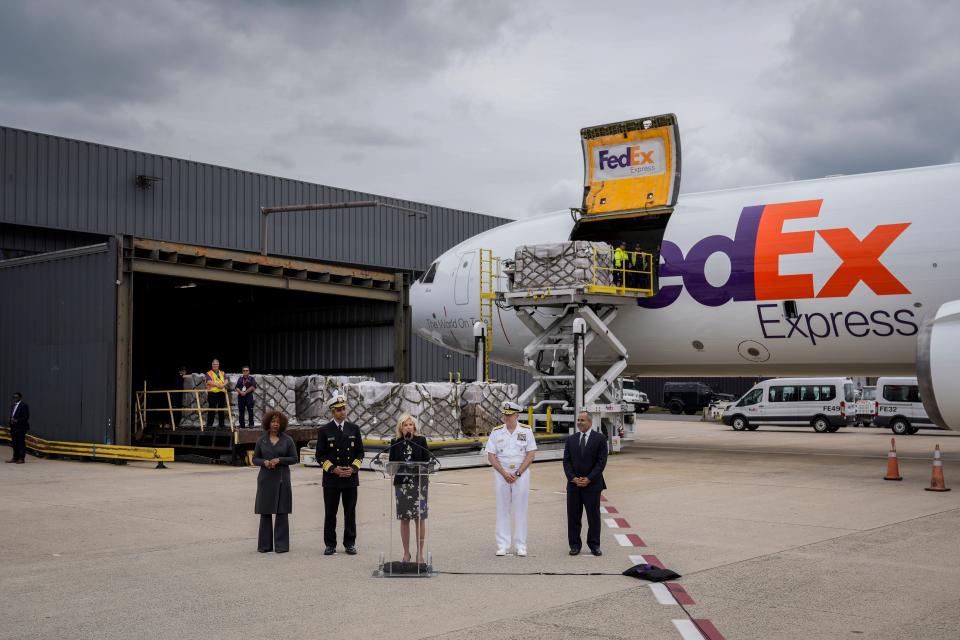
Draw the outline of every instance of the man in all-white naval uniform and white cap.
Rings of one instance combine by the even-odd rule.
[[[513,542],[518,556],[527,555],[527,497],[530,494],[530,474],[537,441],[533,430],[518,422],[520,405],[504,402],[501,405],[503,422],[490,432],[487,439],[487,460],[493,465],[493,482],[497,492],[497,555],[510,550],[510,516],[513,516]]]

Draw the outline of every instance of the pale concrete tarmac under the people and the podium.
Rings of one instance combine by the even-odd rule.
[[[567,555],[559,462],[532,470],[527,558],[493,555],[492,472],[446,471],[429,527],[450,573],[419,580],[371,576],[390,540],[373,473],[359,555],[324,557],[316,469],[293,470],[274,555],[256,552],[256,469],[0,464],[0,638],[957,637],[960,490],[923,488],[935,442],[960,482],[960,434],[898,438],[904,480],[885,482],[889,431],[638,428],[608,465],[603,557]],[[643,555],[684,591],[617,575]]]

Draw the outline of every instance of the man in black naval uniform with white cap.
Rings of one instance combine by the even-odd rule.
[[[357,488],[363,462],[360,427],[347,422],[347,399],[336,394],[327,403],[333,420],[317,433],[317,462],[323,467],[323,555],[337,552],[337,510],[343,502],[343,546],[357,553]]]

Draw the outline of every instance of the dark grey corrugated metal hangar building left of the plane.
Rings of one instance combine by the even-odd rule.
[[[261,255],[261,207],[360,202],[270,215]],[[135,390],[214,357],[255,374],[469,375],[412,335],[408,289],[505,222],[0,127],[0,393],[24,393],[43,437],[129,444]]]

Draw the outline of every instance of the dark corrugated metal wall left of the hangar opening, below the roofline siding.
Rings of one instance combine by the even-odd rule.
[[[116,400],[116,243],[77,252],[0,263],[0,394],[23,392],[37,435],[103,443]]]

